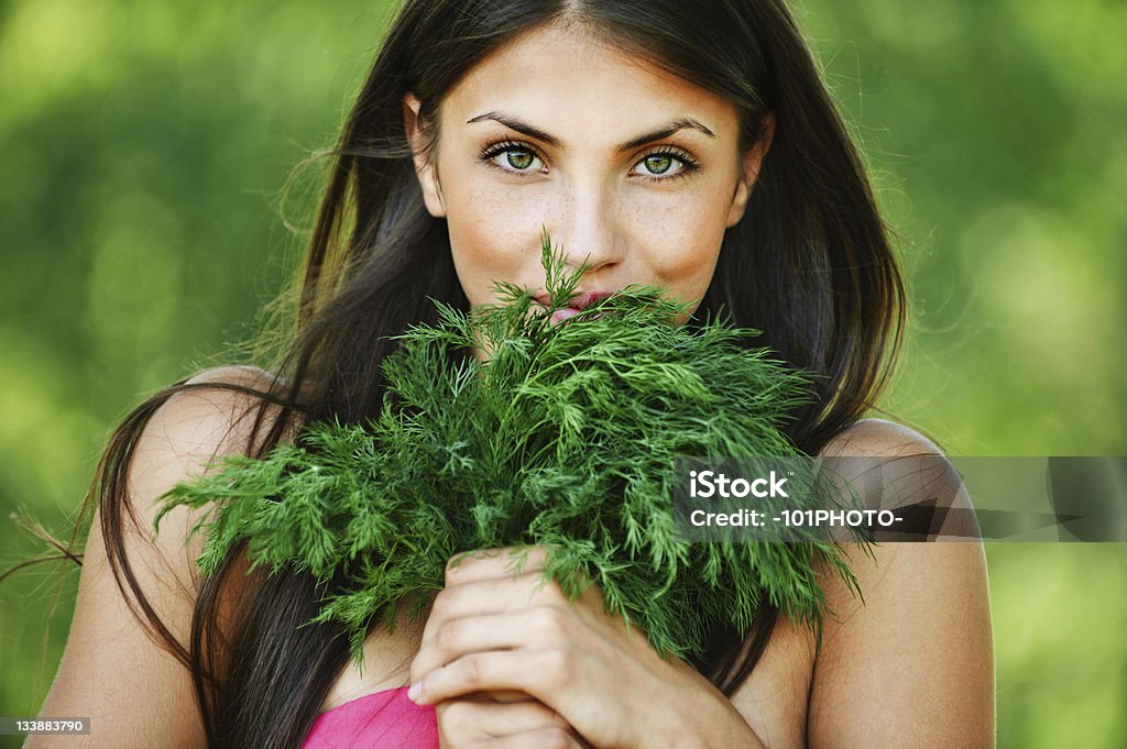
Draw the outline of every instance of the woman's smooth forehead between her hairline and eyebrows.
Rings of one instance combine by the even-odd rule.
[[[738,124],[725,99],[582,26],[526,32],[470,69],[441,106],[444,131],[496,127],[506,122],[491,116],[498,113],[556,136],[562,149],[616,149],[674,122],[701,137]]]

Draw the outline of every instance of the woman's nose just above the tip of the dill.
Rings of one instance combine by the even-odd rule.
[[[587,264],[587,273],[621,262],[625,238],[620,232],[614,196],[597,185],[573,185],[560,200],[552,244],[562,246],[569,267]]]

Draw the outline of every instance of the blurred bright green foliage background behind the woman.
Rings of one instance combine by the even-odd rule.
[[[1127,454],[1127,5],[797,12],[912,275],[890,411],[957,455]],[[387,17],[0,1],[0,569],[37,549],[10,511],[64,533],[113,425],[254,332],[301,249],[275,197]],[[1122,747],[1127,545],[987,554],[1000,746]],[[0,586],[0,715],[37,711],[77,579]]]

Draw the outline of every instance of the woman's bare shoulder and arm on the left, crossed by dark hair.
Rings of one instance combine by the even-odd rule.
[[[264,378],[265,373],[232,367],[193,382],[261,387]],[[185,545],[196,520],[186,508],[166,516],[154,537],[154,500],[199,473],[216,453],[240,449],[249,436],[254,416],[246,414],[252,405],[249,395],[228,390],[176,394],[145,426],[130,466],[128,499],[136,521],[125,518],[122,544],[145,598],[181,645],[188,642],[202,540]],[[25,749],[206,744],[187,667],[137,621],[131,604],[135,606],[123,597],[109,567],[96,514],[66,649],[41,711],[43,716],[89,716],[90,734],[33,735]]]

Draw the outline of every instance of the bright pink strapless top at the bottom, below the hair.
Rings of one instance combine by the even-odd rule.
[[[321,713],[301,749],[438,749],[433,705],[416,705],[407,687],[384,689]]]

